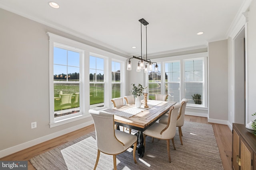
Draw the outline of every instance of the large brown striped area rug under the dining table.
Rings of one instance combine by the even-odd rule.
[[[178,128],[174,138],[176,150],[170,144],[172,162],[168,162],[166,141],[146,137],[144,157],[136,154],[137,164],[132,157],[132,149],[116,156],[118,170],[223,170],[222,162],[212,125],[185,122],[182,127],[182,141]],[[30,162],[37,170],[92,170],[97,156],[95,132],[61,145],[48,152],[34,156]],[[97,170],[112,170],[113,157],[100,154]]]

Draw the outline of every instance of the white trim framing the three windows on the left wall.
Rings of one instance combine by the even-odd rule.
[[[104,74],[106,75],[106,78],[105,79],[105,76],[104,76],[104,81],[106,81],[106,91],[109,92],[108,94],[105,93],[105,101],[106,101],[106,105],[105,105],[105,108],[110,108],[111,107],[111,96],[112,96],[112,93],[111,93],[111,83],[108,83],[108,82],[112,82],[111,81],[111,76],[108,76],[108,75],[111,75],[111,60],[113,61],[118,61],[119,63],[121,63],[121,68],[122,68],[122,82],[124,82],[124,77],[125,77],[125,70],[124,70],[124,65],[125,65],[125,61],[126,61],[126,58],[125,57],[122,57],[120,55],[116,55],[116,54],[113,54],[113,53],[110,53],[108,51],[104,51],[102,49],[98,49],[96,47],[92,47],[90,45],[86,45],[84,43],[80,43],[78,41],[74,41],[72,39],[68,39],[68,38],[65,38],[65,37],[62,37],[62,36],[59,36],[59,35],[56,35],[56,34],[53,34],[53,33],[50,33],[50,32],[47,32],[47,35],[49,36],[49,93],[50,93],[50,96],[49,96],[49,102],[50,102],[50,110],[49,110],[49,114],[50,114],[50,128],[52,127],[56,127],[56,126],[59,126],[59,125],[63,125],[63,124],[66,124],[66,123],[70,123],[70,122],[73,122],[73,121],[77,121],[77,120],[80,120],[80,119],[84,119],[86,117],[91,117],[91,115],[88,113],[88,110],[90,109],[90,96],[89,95],[86,95],[86,89],[90,89],[90,83],[89,83],[89,80],[90,80],[90,75],[87,74],[89,73],[89,56],[90,55],[94,55],[96,54],[97,56],[101,56],[101,57],[104,57],[106,60],[104,63],[106,65],[106,71],[104,71]],[[80,87],[80,99],[82,99],[83,101],[87,101],[87,102],[81,102],[81,108],[80,109],[80,112],[81,114],[80,115],[75,115],[73,117],[66,117],[65,119],[62,119],[62,120],[56,120],[54,118],[54,86],[53,86],[53,50],[54,50],[54,43],[59,43],[59,44],[63,44],[65,46],[70,46],[70,47],[75,47],[79,50],[82,50],[84,51],[84,56],[82,57],[81,59],[81,62],[80,64],[84,64],[84,67],[82,67],[80,65],[80,70],[83,74],[83,78],[81,79],[81,84],[82,86]],[[97,57],[96,56],[96,57]],[[107,71],[108,70],[108,71]],[[108,74],[107,74],[108,73]],[[109,80],[110,79],[110,80]],[[121,92],[121,95],[123,96],[123,94],[125,94],[125,84],[123,83],[122,84],[122,92]],[[109,99],[109,100],[108,100]],[[104,108],[100,108],[100,109],[104,109]]]

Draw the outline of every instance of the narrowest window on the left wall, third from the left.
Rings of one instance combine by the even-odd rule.
[[[121,97],[121,63],[112,61],[112,98]]]

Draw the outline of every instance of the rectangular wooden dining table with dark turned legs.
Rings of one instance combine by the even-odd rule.
[[[136,108],[135,104],[127,104],[120,107],[106,109],[104,111],[114,114],[115,124],[130,129],[138,130],[135,134],[138,137],[137,150],[140,157],[144,156],[143,131],[155,123],[160,117],[168,113],[170,107],[176,102],[165,102],[159,100],[147,100],[148,108],[142,106]]]

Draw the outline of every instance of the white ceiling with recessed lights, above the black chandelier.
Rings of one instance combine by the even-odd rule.
[[[244,0],[0,0],[0,8],[116,51],[141,54],[140,22],[147,25],[147,53],[207,47],[228,38],[228,30]],[[197,35],[198,32],[204,32]],[[142,55],[145,55],[142,25]],[[133,49],[132,47],[137,47]]]

